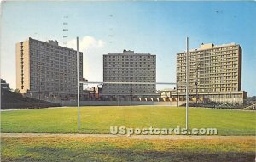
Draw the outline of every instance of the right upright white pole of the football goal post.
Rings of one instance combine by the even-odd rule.
[[[189,129],[189,37],[186,39],[186,130]]]

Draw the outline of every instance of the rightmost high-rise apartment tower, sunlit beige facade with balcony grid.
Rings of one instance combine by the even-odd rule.
[[[208,98],[216,102],[242,103],[247,92],[241,91],[242,50],[235,43],[216,46],[201,44],[189,50],[190,99]],[[177,53],[177,82],[186,81],[186,53]],[[177,87],[184,97],[186,87]]]

